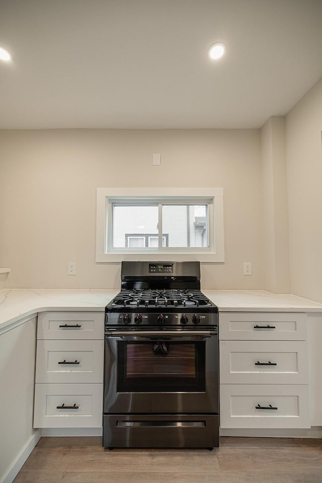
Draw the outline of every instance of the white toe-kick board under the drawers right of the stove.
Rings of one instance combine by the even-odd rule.
[[[322,438],[322,426],[309,429],[230,429],[220,428],[220,436],[255,438]]]

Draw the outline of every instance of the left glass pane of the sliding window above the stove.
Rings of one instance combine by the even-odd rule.
[[[144,235],[157,233],[157,223],[157,206],[114,206],[113,248],[145,247]]]

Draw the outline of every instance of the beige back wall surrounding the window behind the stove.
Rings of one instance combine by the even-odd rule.
[[[5,130],[0,180],[7,287],[119,288],[120,265],[95,263],[96,188],[164,186],[224,189],[226,261],[202,288],[263,288],[259,130]]]

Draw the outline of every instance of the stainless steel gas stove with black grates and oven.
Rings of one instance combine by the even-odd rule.
[[[199,262],[123,262],[106,306],[103,445],[218,446],[218,308]]]

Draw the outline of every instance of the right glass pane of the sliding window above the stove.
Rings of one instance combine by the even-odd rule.
[[[208,247],[207,205],[163,205],[162,226],[169,247]]]

